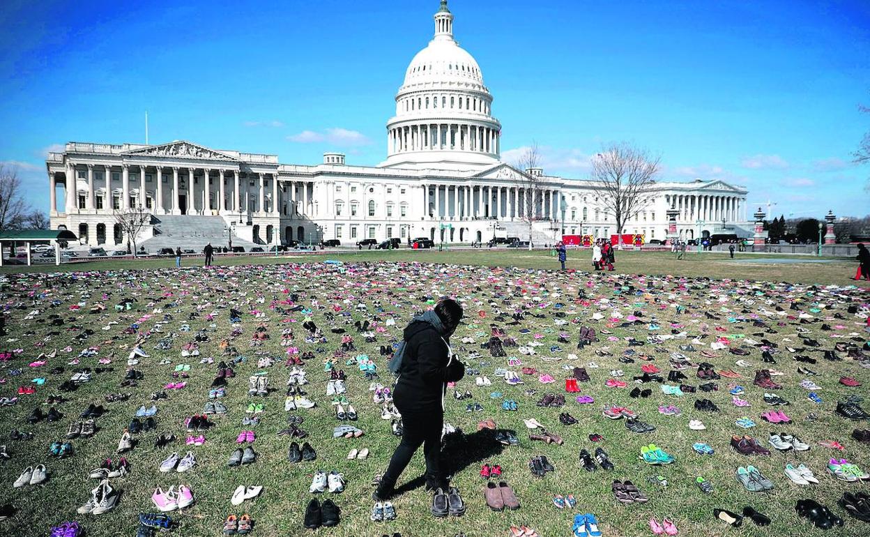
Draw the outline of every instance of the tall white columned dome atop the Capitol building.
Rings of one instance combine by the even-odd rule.
[[[453,38],[447,0],[435,36],[405,70],[396,115],[387,122],[384,167],[471,170],[499,163],[501,124],[471,54]]]

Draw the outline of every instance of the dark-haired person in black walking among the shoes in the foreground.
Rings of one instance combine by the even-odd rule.
[[[450,350],[450,337],[460,319],[462,306],[455,300],[443,299],[434,310],[415,317],[405,327],[405,348],[394,358],[401,359],[401,365],[392,395],[402,414],[402,440],[372,494],[375,500],[391,497],[398,477],[421,445],[426,460],[426,488],[447,489],[440,464],[441,431],[447,383],[465,376],[465,365]]]

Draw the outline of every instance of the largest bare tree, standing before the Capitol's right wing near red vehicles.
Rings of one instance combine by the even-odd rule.
[[[617,245],[622,244],[626,223],[653,201],[659,161],[626,142],[606,145],[592,158],[592,181],[601,189],[599,205],[616,218]]]

